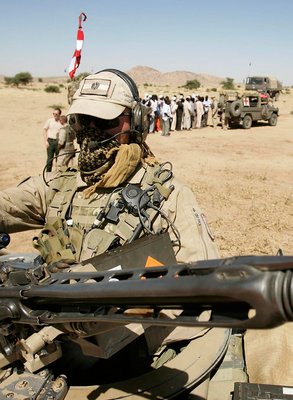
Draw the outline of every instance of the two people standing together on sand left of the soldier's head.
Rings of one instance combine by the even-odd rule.
[[[46,171],[51,172],[54,159],[57,169],[69,166],[75,156],[75,131],[60,108],[54,108],[53,117],[44,125],[44,141],[47,149]]]

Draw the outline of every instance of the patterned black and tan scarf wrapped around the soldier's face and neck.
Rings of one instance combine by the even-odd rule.
[[[115,139],[108,140],[107,133],[88,127],[76,136],[80,146],[78,167],[82,180],[89,186],[84,191],[86,197],[97,187],[119,186],[141,162],[142,149],[137,143],[120,145]]]

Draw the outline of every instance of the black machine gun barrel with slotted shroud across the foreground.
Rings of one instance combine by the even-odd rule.
[[[5,261],[0,263],[0,321],[272,328],[293,320],[292,271],[293,256],[54,273],[40,258]],[[166,318],[163,310],[176,315]],[[205,311],[208,321],[200,318]]]

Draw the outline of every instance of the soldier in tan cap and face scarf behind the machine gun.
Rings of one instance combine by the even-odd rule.
[[[40,176],[28,178],[0,192],[0,231],[40,228],[33,242],[44,261],[57,269],[65,263],[73,271],[86,270],[80,264],[83,260],[164,232],[169,234],[177,262],[217,258],[213,236],[192,191],[175,179],[169,162],[155,159],[146,144],[147,112],[135,83],[125,73],[108,69],[87,76],[68,111],[80,146],[78,170],[47,174],[46,182]],[[106,333],[95,329],[90,343],[86,336],[75,342],[82,349],[88,343],[87,354],[98,348],[98,354],[108,357],[141,334],[116,326],[108,327]],[[188,329],[179,331],[176,338],[199,335],[198,330]],[[154,337],[162,339],[153,336],[152,346]],[[210,349],[210,339],[203,336],[204,343],[204,337]],[[221,349],[225,347],[222,339],[219,343]],[[65,350],[62,359],[72,366]],[[205,351],[206,378],[211,353]],[[220,359],[218,348],[211,359]],[[80,367],[76,376],[79,371]]]

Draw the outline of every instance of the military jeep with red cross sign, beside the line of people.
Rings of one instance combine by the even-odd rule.
[[[225,118],[230,126],[240,125],[250,129],[257,121],[267,121],[270,126],[276,126],[279,108],[274,107],[267,94],[256,91],[222,92],[219,96],[219,117]]]

